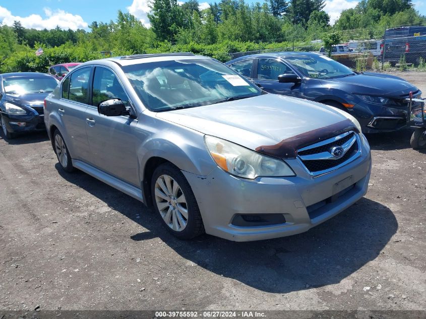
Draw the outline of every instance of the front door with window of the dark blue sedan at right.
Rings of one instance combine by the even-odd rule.
[[[301,97],[305,84],[279,83],[278,76],[294,74],[293,70],[280,59],[259,58],[255,67],[254,83],[266,92]]]

